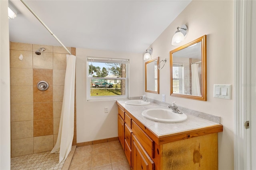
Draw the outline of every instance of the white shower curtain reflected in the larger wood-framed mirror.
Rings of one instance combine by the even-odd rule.
[[[201,96],[199,75],[198,75],[198,64],[191,64],[191,81],[192,81],[192,95]]]

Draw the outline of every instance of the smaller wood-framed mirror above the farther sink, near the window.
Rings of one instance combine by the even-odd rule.
[[[145,63],[145,91],[159,94],[159,57]]]

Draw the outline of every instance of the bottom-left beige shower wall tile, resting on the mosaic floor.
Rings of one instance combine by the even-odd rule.
[[[32,154],[33,138],[12,140],[11,146],[11,157]]]

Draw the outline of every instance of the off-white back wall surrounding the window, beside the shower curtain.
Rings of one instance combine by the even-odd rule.
[[[76,127],[77,142],[118,136],[117,105],[111,101],[86,101],[86,57],[130,59],[129,97],[142,96],[142,54],[76,48]],[[104,113],[108,107],[109,113]]]

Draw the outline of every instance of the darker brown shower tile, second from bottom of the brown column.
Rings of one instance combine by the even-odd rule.
[[[53,118],[52,102],[34,103],[34,120]]]

